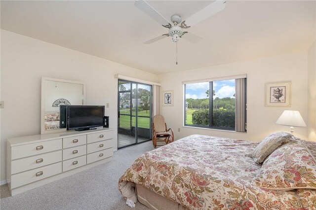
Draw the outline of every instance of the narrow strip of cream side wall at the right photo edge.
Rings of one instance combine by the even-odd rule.
[[[308,139],[316,141],[316,42],[308,50]]]

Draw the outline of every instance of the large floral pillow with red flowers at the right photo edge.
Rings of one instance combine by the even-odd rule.
[[[267,189],[316,189],[316,161],[300,139],[276,149],[252,184]]]

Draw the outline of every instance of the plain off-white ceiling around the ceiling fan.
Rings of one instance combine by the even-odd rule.
[[[315,41],[315,0],[227,1],[187,30],[203,39],[180,39],[175,65],[170,37],[143,44],[167,29],[134,2],[1,0],[1,29],[158,74],[307,50]],[[149,1],[167,19],[185,19],[211,2]]]

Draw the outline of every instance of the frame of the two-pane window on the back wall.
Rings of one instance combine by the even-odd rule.
[[[229,79],[238,79],[238,78],[244,78],[245,79],[245,132],[242,133],[247,133],[247,77],[236,77],[236,78],[214,78],[214,79],[209,79],[208,81],[197,81],[197,82],[190,82],[190,83],[183,83],[183,88],[184,88],[184,122],[183,122],[183,126],[185,127],[193,127],[193,128],[205,128],[205,129],[214,129],[214,130],[222,130],[222,131],[235,131],[236,132],[236,128],[227,128],[227,127],[218,127],[218,126],[213,126],[213,82],[215,81],[222,81],[222,80],[229,80]],[[187,102],[187,98],[186,98],[186,85],[187,84],[193,84],[193,83],[201,83],[201,82],[209,82],[209,125],[208,126],[204,126],[204,125],[190,125],[190,124],[186,124],[187,121],[187,116],[186,116],[186,102]],[[236,82],[235,82],[236,85]],[[235,86],[236,87],[236,86]],[[235,93],[236,94],[236,93]],[[212,100],[210,100],[210,96],[212,96]],[[236,101],[235,101],[235,105],[236,105]],[[236,111],[235,111],[236,114]],[[235,121],[235,126],[236,126],[236,121]]]

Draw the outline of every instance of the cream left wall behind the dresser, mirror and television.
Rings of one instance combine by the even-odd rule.
[[[40,134],[41,76],[84,82],[86,105],[110,103],[105,114],[117,132],[117,73],[158,82],[156,74],[1,30],[0,180],[5,180],[6,138]]]

